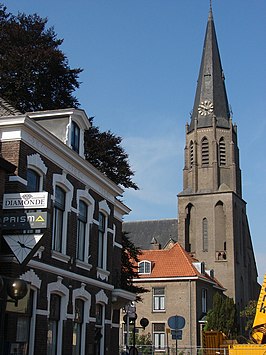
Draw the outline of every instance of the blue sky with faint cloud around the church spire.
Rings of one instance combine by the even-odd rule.
[[[80,107],[123,138],[139,191],[125,191],[125,220],[177,217],[185,124],[190,119],[209,0],[7,0],[13,14],[48,18],[72,68]],[[266,273],[266,1],[213,0],[243,198],[262,281]]]

